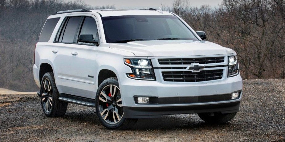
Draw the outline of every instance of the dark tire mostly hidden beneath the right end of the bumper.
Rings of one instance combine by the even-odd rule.
[[[221,112],[214,112],[198,113],[198,116],[207,123],[226,123],[232,120],[236,114],[237,112],[226,114],[222,114]]]

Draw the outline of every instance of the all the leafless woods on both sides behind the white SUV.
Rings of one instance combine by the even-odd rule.
[[[0,88],[38,91],[34,49],[46,18],[56,11],[112,9],[83,1],[0,0]],[[217,8],[187,0],[162,6],[182,17],[207,40],[234,49],[243,79],[285,78],[285,1],[224,0]]]

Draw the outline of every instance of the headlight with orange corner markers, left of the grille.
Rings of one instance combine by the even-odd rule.
[[[155,80],[149,59],[124,59],[124,63],[130,66],[133,72],[128,73],[128,77],[132,79]]]

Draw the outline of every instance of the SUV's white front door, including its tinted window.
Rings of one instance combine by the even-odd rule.
[[[83,17],[78,36],[92,34],[94,39],[99,39],[96,20],[93,17]],[[95,99],[96,92],[96,55],[98,45],[84,43],[77,39],[78,45],[72,48],[70,75],[73,79],[72,88],[74,95]]]

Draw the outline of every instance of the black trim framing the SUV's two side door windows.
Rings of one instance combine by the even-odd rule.
[[[61,35],[62,35],[61,33],[64,34],[64,31],[65,31],[66,25],[67,25],[67,23],[68,23],[68,20],[69,20],[69,18],[71,18],[71,17],[81,17],[81,21],[80,21],[80,23],[79,23],[79,26],[77,27],[77,33],[76,33],[76,35],[75,35],[75,37],[74,37],[74,40],[73,40],[73,42],[63,42],[63,41],[60,41],[60,39],[62,40],[62,38],[63,38],[63,36],[61,36]],[[98,45],[96,45],[96,44],[90,44],[90,43],[78,43],[78,42],[76,42],[76,41],[78,41],[79,32],[80,32],[80,30],[81,30],[81,28],[82,28],[82,26],[83,26],[83,21],[84,21],[85,17],[90,17],[90,18],[95,19],[95,18],[92,17],[92,16],[86,16],[86,15],[82,15],[82,16],[80,16],[80,15],[79,15],[79,16],[66,16],[66,17],[63,19],[63,22],[61,23],[59,30],[57,31],[57,34],[56,34],[56,36],[55,36],[55,39],[54,39],[53,43],[77,44],[77,45],[88,45],[88,46],[99,46],[99,45],[100,45],[100,34],[98,35],[98,36],[99,36],[99,43],[98,43]],[[95,22],[96,22],[96,19],[95,19]],[[96,26],[97,26],[97,25],[98,25],[98,23],[96,23]],[[97,28],[97,30],[98,30],[98,32],[99,32],[98,27],[96,27],[96,28]],[[60,36],[60,37],[58,37],[58,36]],[[56,40],[59,40],[59,41],[56,41]]]

